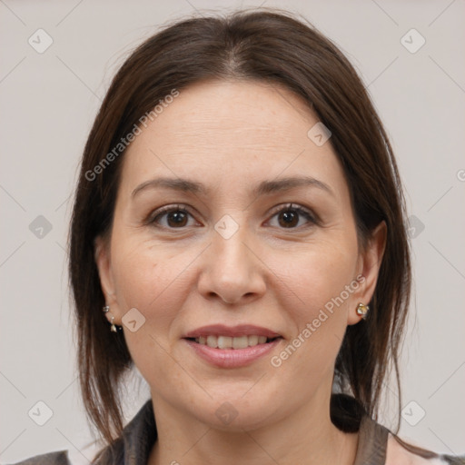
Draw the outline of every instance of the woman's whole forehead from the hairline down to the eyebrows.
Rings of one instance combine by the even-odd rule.
[[[159,107],[160,109],[160,107]],[[318,117],[291,91],[255,81],[209,81],[163,105],[124,155],[123,188],[155,175],[197,175],[244,186],[252,179],[307,174],[344,183],[330,143],[308,132]],[[255,184],[255,182],[253,183]],[[343,186],[339,186],[343,188]]]

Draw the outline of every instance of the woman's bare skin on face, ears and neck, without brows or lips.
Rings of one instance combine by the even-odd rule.
[[[97,239],[95,257],[107,317],[122,325],[136,308],[145,318],[138,331],[123,327],[152,393],[159,436],[151,465],[353,463],[358,433],[331,423],[331,382],[344,331],[360,322],[357,304],[374,292],[386,226],[361,250],[331,140],[317,146],[307,136],[317,122],[285,88],[204,82],[183,90],[124,155],[113,228]],[[331,192],[304,185],[252,193],[262,181],[302,174]],[[133,194],[160,176],[189,178],[210,192],[146,187]],[[294,212],[289,227],[279,213],[288,203],[319,222]],[[181,227],[166,214],[157,217],[160,207],[178,204],[190,213]],[[214,229],[223,215],[238,225],[229,239]],[[359,274],[365,279],[358,289],[273,367],[272,355]],[[283,339],[250,366],[218,368],[182,340],[213,323],[250,323]],[[237,412],[229,424],[215,415],[223,402]]]

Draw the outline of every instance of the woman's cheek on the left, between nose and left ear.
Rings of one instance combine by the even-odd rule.
[[[124,327],[128,350],[151,386],[165,379],[167,371],[172,381],[183,384],[183,372],[169,353],[173,331],[183,317],[183,302],[191,291],[188,267],[195,254],[167,252],[143,241],[120,244],[112,255],[117,302],[123,315],[135,308],[144,318],[137,331]]]

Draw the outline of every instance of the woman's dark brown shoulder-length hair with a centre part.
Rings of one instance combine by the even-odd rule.
[[[182,92],[202,81],[231,79],[281,85],[330,129],[361,248],[374,228],[386,223],[371,310],[365,320],[348,326],[335,361],[335,384],[342,395],[332,396],[331,420],[347,431],[356,430],[354,418],[361,413],[376,420],[383,382],[392,368],[401,407],[398,357],[410,301],[411,260],[401,178],[388,136],[357,72],[328,38],[287,12],[239,11],[178,21],[139,45],[115,74],[85,144],[69,271],[84,407],[107,444],[123,430],[118,387],[134,361],[124,333],[109,331],[94,260],[95,238],[111,233],[124,150],[112,163],[102,163],[173,89]],[[103,168],[97,171],[97,165]],[[397,420],[396,432],[400,408]]]

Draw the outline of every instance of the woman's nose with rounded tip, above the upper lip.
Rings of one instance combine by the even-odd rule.
[[[261,297],[266,291],[266,267],[256,249],[247,240],[243,226],[229,239],[213,231],[212,244],[203,253],[198,281],[201,295],[230,304],[252,302]]]

